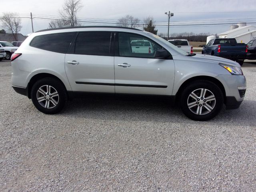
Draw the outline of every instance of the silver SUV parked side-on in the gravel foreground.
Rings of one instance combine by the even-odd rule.
[[[134,41],[150,42],[135,52]],[[193,120],[209,120],[223,104],[236,109],[246,79],[240,65],[188,54],[149,32],[123,27],[76,27],[32,33],[12,54],[12,87],[46,114],[78,93],[168,96]]]

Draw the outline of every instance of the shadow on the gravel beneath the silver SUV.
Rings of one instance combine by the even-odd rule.
[[[226,110],[223,106],[220,114],[212,120],[202,123],[216,124],[216,126],[230,123],[241,126],[256,126],[255,111],[256,101],[244,100],[240,108]],[[76,98],[69,101],[64,110],[58,115],[98,120],[198,124],[198,121],[187,118],[178,106],[171,106],[168,99],[161,97],[102,96]]]

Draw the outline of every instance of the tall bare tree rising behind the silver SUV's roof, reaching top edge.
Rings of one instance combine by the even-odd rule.
[[[76,14],[82,8],[81,0],[66,0],[60,11],[60,15],[64,20],[70,23],[70,26],[79,26]]]

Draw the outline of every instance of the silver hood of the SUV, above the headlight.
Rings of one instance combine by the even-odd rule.
[[[231,66],[235,66],[235,67],[241,67],[240,64],[238,64],[235,61],[229,60],[229,59],[225,59],[222,57],[217,57],[217,56],[211,56],[211,55],[202,55],[202,54],[196,54],[195,56],[191,56],[191,58],[198,58],[200,59],[200,61],[205,61],[208,63],[224,63],[224,64],[228,64]]]

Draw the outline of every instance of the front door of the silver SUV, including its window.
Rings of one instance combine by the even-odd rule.
[[[132,52],[133,40],[148,40],[150,53]],[[171,95],[174,83],[174,61],[154,58],[162,46],[133,33],[116,33],[115,92],[120,94]]]

